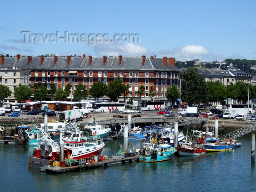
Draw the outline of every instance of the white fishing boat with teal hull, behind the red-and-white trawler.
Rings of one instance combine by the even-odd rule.
[[[98,138],[103,138],[103,141],[108,139],[110,130],[109,126],[96,123],[94,117],[91,117],[83,127],[83,131],[87,136],[97,136]]]

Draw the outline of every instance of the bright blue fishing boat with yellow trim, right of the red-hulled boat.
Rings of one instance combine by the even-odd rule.
[[[206,138],[204,141],[206,152],[232,150],[232,144],[230,142],[219,141],[219,139],[216,138]]]

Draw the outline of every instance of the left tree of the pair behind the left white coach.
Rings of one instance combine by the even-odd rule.
[[[97,99],[97,102],[99,102],[99,98],[103,97],[104,95],[107,94],[107,85],[102,82],[94,82],[91,88],[89,89],[89,95],[93,97],[95,100]]]

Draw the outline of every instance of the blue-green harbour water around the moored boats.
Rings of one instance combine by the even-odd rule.
[[[251,134],[241,147],[198,157],[173,157],[158,163],[133,162],[63,174],[29,167],[33,146],[0,145],[1,191],[254,191]],[[102,155],[123,150],[123,141],[108,140]],[[135,150],[140,142],[129,142]],[[113,153],[112,153],[112,152]]]

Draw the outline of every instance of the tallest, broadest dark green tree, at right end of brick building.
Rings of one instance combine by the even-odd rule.
[[[207,84],[204,76],[197,72],[197,68],[188,68],[184,70],[180,78],[182,101],[192,105],[193,103],[204,103],[207,101]]]

